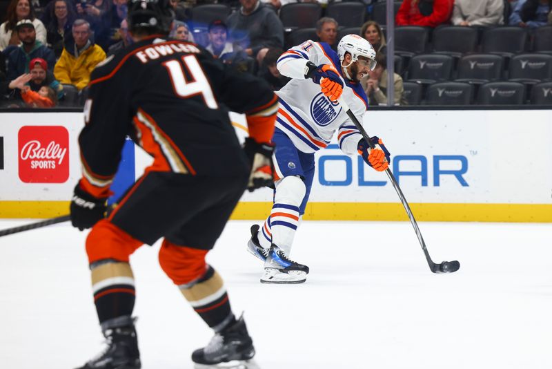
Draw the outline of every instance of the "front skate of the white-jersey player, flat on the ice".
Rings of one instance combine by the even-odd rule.
[[[303,283],[307,274],[306,265],[290,260],[282,249],[273,244],[264,262],[261,283]]]

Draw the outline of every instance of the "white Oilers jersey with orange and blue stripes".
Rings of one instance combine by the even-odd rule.
[[[312,79],[305,79],[307,61],[317,66],[333,65],[342,74],[337,53],[324,42],[308,40],[282,54],[277,61],[277,68],[282,75],[293,79],[276,92],[280,102],[276,129],[283,131],[297,149],[304,153],[324,149],[335,131],[338,131],[339,148],[348,155],[357,153],[357,144],[362,135],[339,103],[331,102],[324,96],[320,86]],[[362,86],[346,82],[342,98],[362,122],[368,108]]]

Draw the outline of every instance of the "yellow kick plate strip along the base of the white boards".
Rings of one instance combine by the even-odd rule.
[[[416,220],[435,222],[552,223],[552,204],[410,204]],[[264,219],[270,202],[240,202],[231,219]],[[0,218],[53,218],[68,201],[0,201]],[[311,202],[305,220],[408,220],[400,203]]]

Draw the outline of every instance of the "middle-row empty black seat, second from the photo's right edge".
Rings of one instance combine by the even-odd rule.
[[[457,82],[482,84],[496,81],[502,77],[504,57],[494,54],[472,54],[458,61]]]

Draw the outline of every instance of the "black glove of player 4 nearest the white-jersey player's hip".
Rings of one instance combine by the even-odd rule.
[[[272,165],[272,154],[274,153],[274,145],[269,143],[259,144],[253,138],[246,138],[244,144],[249,162],[251,164],[251,173],[247,189],[253,192],[265,186],[274,185],[274,168]]]

